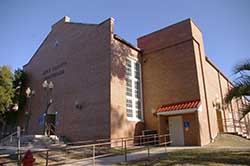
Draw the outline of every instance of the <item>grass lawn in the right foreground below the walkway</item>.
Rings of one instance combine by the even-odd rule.
[[[190,166],[190,165],[209,165],[209,166],[249,166],[250,150],[248,151],[228,151],[211,149],[178,150],[160,154],[148,159],[128,162],[117,165],[170,165],[170,166]]]

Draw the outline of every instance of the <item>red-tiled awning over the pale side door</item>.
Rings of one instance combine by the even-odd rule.
[[[156,110],[157,115],[178,115],[184,113],[192,113],[198,110],[200,100],[186,101],[175,104],[168,104],[159,107]]]

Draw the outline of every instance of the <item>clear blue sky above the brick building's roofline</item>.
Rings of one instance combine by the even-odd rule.
[[[100,23],[113,17],[115,33],[136,39],[186,18],[203,32],[205,52],[232,78],[232,67],[250,58],[250,0],[1,0],[0,65],[21,68],[63,16]]]

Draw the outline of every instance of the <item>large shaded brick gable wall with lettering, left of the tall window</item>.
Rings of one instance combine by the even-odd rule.
[[[30,134],[43,131],[38,119],[45,111],[42,82],[47,77],[55,85],[51,112],[57,112],[59,135],[72,141],[110,137],[111,30],[110,19],[96,25],[62,19],[53,26],[24,66],[30,86],[36,91],[31,105]],[[46,73],[48,69],[51,71]],[[61,70],[63,74],[51,76]],[[76,108],[77,103],[82,109]]]

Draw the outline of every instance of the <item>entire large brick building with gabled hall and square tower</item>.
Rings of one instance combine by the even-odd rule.
[[[223,106],[232,85],[205,56],[190,19],[140,37],[136,47],[114,33],[112,18],[82,24],[64,17],[24,70],[36,91],[27,107],[30,134],[44,132],[45,112],[56,134],[72,141],[150,129],[170,132],[174,145],[205,145],[218,132],[249,131],[249,115],[239,122],[245,100]],[[53,90],[44,90],[44,80]]]

